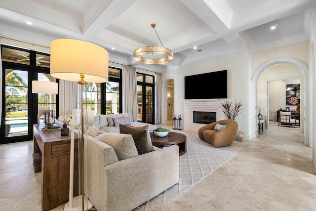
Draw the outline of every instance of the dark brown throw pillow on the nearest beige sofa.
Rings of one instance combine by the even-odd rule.
[[[152,146],[148,144],[146,130],[139,130],[133,127],[119,125],[119,132],[132,135],[138,154],[141,155],[151,151]]]

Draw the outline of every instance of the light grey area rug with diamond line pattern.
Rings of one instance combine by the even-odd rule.
[[[211,144],[200,140],[196,133],[178,132],[187,136],[187,152],[180,156],[179,183],[133,211],[158,211],[246,146],[244,142],[234,141],[230,146],[215,148]],[[58,208],[61,211],[63,206]],[[95,209],[92,208],[89,211],[95,211]]]

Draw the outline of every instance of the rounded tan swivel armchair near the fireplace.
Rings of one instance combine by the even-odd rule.
[[[217,131],[213,130],[216,124],[227,125],[226,128]],[[235,120],[220,120],[208,124],[198,129],[198,137],[214,147],[223,147],[231,145],[237,134],[238,124]]]

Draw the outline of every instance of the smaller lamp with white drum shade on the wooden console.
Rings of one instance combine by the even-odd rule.
[[[48,94],[58,94],[58,84],[56,82],[32,81],[32,93],[45,94],[45,106],[39,107],[38,124],[40,124],[40,115],[44,115],[45,125],[51,126],[55,123],[56,113],[49,109]]]

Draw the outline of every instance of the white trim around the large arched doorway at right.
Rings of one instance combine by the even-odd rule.
[[[257,114],[258,114],[258,98],[257,98],[257,92],[258,92],[258,79],[261,73],[266,70],[267,68],[275,65],[280,64],[290,64],[295,66],[303,75],[303,114],[301,115],[304,119],[304,144],[309,145],[309,135],[308,135],[308,128],[309,128],[309,74],[308,74],[308,67],[300,60],[292,57],[277,57],[270,60],[265,61],[262,63],[253,73],[251,78],[251,87],[252,87],[252,109],[250,114],[250,122],[252,122],[252,135],[251,137],[257,137],[258,131],[257,131]],[[302,86],[301,86],[302,87]],[[302,101],[301,101],[302,102]]]

